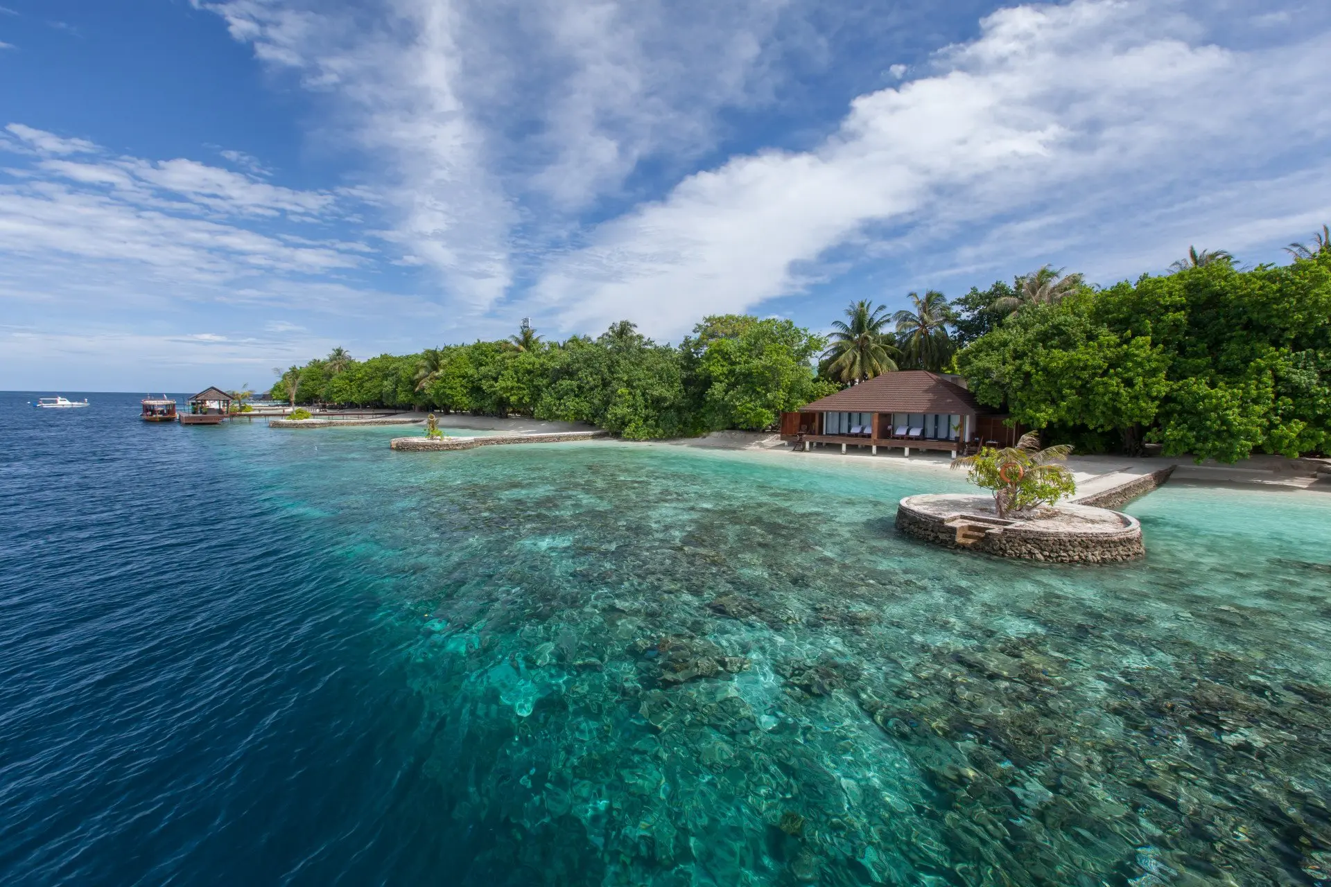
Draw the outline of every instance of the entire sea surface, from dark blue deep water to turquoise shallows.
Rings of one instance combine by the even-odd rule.
[[[1331,878],[1324,493],[1054,567],[897,537],[902,465],[12,403],[8,882]]]

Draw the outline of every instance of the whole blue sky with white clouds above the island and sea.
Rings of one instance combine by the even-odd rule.
[[[1324,3],[0,4],[0,388],[825,328],[1331,222]]]

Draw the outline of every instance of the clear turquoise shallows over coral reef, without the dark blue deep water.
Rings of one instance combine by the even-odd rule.
[[[378,751],[326,763],[358,786],[309,807],[335,814],[237,832],[290,859],[226,868],[201,823],[158,874],[1331,883],[1331,495],[1171,484],[1129,508],[1145,561],[1066,567],[898,537],[898,499],[964,488],[898,460],[168,434],[282,528],[265,620],[305,640],[265,656],[338,613],[246,710],[337,685],[309,729]],[[303,770],[285,735],[262,754]]]

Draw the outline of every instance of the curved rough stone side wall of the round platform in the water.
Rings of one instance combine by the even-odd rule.
[[[946,517],[897,507],[897,531],[934,545],[968,548],[973,552],[1018,557],[1022,560],[1054,561],[1058,564],[1107,564],[1146,556],[1142,528],[1131,517],[1122,515],[1123,528],[1118,532],[1078,533],[1022,529],[1020,524],[996,527],[972,545],[957,543],[957,531]]]

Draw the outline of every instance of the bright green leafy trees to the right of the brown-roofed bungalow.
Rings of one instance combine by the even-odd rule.
[[[1206,261],[1016,311],[957,356],[976,396],[1069,440],[1235,461],[1331,445],[1331,253]],[[1111,432],[1111,434],[1110,434]]]

